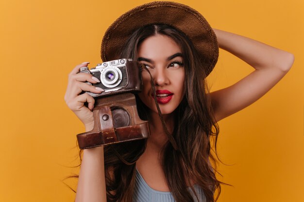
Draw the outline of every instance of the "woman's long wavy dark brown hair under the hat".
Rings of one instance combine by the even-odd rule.
[[[122,48],[120,58],[136,60],[139,45],[156,34],[171,37],[181,47],[185,64],[186,93],[173,112],[176,113],[176,118],[172,136],[179,150],[174,150],[169,141],[162,148],[161,165],[169,189],[176,202],[194,202],[186,188],[186,182],[190,185],[189,180],[194,178],[196,184],[203,189],[206,202],[215,202],[220,195],[221,182],[216,179],[216,158],[212,155],[210,143],[211,137],[214,137],[216,147],[219,127],[204,79],[204,69],[210,64],[198,54],[185,34],[170,26],[158,24],[135,31]],[[147,120],[147,107],[138,97],[136,100],[140,118]],[[147,140],[137,140],[104,147],[107,202],[132,202],[135,186],[135,164],[122,163],[114,150],[128,162],[135,162],[144,153],[146,146]],[[113,178],[111,173],[114,173]],[[194,191],[193,186],[191,188]]]

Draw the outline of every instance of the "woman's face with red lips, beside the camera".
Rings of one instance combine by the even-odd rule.
[[[166,35],[154,35],[138,47],[138,61],[151,72],[156,98],[162,114],[169,114],[180,104],[184,96],[185,68],[181,48]],[[142,73],[141,101],[157,113],[149,73]]]

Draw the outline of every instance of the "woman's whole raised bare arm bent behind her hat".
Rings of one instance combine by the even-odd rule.
[[[210,93],[217,121],[251,105],[267,93],[291,68],[293,54],[253,39],[213,29],[219,47],[250,64],[255,71],[234,85]]]

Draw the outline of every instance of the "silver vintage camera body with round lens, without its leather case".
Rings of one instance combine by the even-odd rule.
[[[132,61],[132,59],[102,62],[90,70],[88,67],[82,67],[80,73],[91,74],[101,81],[96,84],[87,82],[90,85],[100,87],[104,90],[104,92],[100,94],[86,92],[92,97],[141,91],[140,67],[138,62]]]

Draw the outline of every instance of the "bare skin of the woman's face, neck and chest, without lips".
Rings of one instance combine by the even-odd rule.
[[[147,38],[138,48],[138,61],[146,65],[152,74],[156,90],[169,90],[172,99],[166,104],[159,104],[169,132],[173,130],[172,112],[178,107],[184,96],[185,68],[181,56],[168,58],[182,53],[181,48],[171,38],[157,34]],[[173,63],[176,62],[176,63]],[[152,97],[152,85],[148,72],[142,73],[143,91],[138,94],[143,103],[150,109],[150,138],[146,152],[139,157],[136,168],[145,181],[155,190],[169,191],[165,175],[159,161],[159,149],[168,140]],[[149,169],[146,169],[149,167]],[[151,172],[152,171],[152,172]]]

